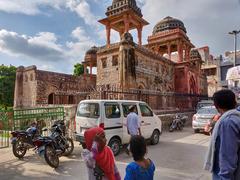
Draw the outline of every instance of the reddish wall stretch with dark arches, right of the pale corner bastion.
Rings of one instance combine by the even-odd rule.
[[[77,104],[81,92],[96,85],[96,76],[73,76],[68,74],[37,71],[37,104],[48,104],[54,94],[54,104]],[[70,96],[72,100],[70,100]],[[70,102],[71,101],[71,102]]]

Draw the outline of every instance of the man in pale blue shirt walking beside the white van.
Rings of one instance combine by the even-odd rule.
[[[129,114],[127,115],[127,131],[130,136],[135,136],[135,135],[142,135],[141,133],[141,122],[140,119],[135,112],[136,106],[132,105],[129,107]],[[129,145],[126,149],[126,153],[129,155]]]

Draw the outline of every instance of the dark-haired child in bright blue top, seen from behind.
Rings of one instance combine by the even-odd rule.
[[[132,136],[130,151],[134,162],[128,164],[124,180],[153,180],[155,165],[144,156],[147,153],[147,145],[144,137]]]

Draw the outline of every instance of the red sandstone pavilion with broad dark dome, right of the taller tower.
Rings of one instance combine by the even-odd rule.
[[[165,17],[153,28],[148,37],[148,48],[177,62],[189,61],[190,51],[194,48],[187,36],[184,23],[170,16]],[[177,52],[178,57],[172,59],[172,53]]]

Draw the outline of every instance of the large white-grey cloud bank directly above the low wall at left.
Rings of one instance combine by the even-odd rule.
[[[73,41],[59,44],[54,33],[40,32],[34,37],[0,30],[0,54],[34,63],[39,69],[71,73],[73,65],[84,59],[85,52],[98,45],[82,27],[72,33]]]

